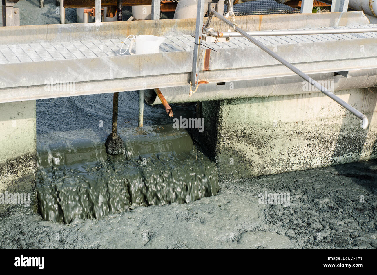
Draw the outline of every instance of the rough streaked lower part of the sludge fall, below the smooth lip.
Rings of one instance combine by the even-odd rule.
[[[198,150],[150,154],[140,159],[109,156],[82,166],[40,168],[37,192],[46,221],[69,224],[125,211],[132,204],[179,204],[216,195],[217,170]]]

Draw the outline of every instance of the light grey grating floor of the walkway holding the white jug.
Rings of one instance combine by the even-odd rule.
[[[370,27],[377,27],[377,24],[312,29],[352,29]],[[363,38],[377,38],[377,33],[369,32],[257,37],[257,39],[265,45],[299,44]],[[124,39],[103,39],[74,42],[0,45],[0,64],[120,56],[119,50],[123,41]],[[126,41],[126,45],[128,45],[129,42],[130,39]],[[213,43],[203,41],[202,43],[214,49],[256,47],[244,37],[235,37],[228,42]],[[123,51],[127,47],[126,45],[124,45]],[[191,35],[168,36],[161,44],[160,52],[167,53],[175,51],[191,51],[193,50],[193,45],[194,38]],[[125,55],[127,54],[129,54],[128,51]]]

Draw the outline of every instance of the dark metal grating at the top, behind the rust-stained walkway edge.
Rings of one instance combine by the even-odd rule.
[[[233,6],[236,15],[299,14],[300,10],[274,0],[255,0]],[[224,6],[227,12],[227,5]]]

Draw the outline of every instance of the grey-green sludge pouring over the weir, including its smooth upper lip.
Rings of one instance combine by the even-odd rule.
[[[123,135],[122,135],[123,131]],[[143,206],[179,204],[216,195],[215,164],[184,129],[159,125],[118,131],[123,154],[110,156],[88,140],[38,150],[37,193],[46,221],[100,218]]]

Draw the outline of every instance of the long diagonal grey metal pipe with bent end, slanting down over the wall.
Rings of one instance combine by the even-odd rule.
[[[326,89],[325,87],[323,87],[322,85],[320,85],[318,82],[316,82],[316,80],[311,79],[307,74],[305,74],[302,71],[300,71],[298,68],[296,68],[295,66],[293,66],[291,63],[289,63],[284,58],[278,56],[276,53],[274,53],[273,51],[271,51],[269,48],[267,48],[265,45],[263,45],[257,39],[255,39],[252,36],[248,35],[247,32],[245,32],[244,30],[241,30],[237,25],[234,25],[233,23],[231,23],[229,20],[227,20],[226,18],[224,18],[218,12],[211,11],[211,14],[215,15],[221,21],[223,21],[224,23],[226,23],[229,26],[231,26],[232,28],[234,28],[237,32],[239,32],[243,36],[245,36],[245,38],[247,38],[248,40],[250,40],[251,42],[253,42],[255,45],[257,45],[259,48],[261,48],[262,50],[264,50],[266,53],[270,54],[270,56],[272,56],[274,59],[276,59],[277,61],[279,61],[280,63],[282,63],[284,66],[286,66],[287,68],[289,68],[291,71],[293,71],[294,73],[296,73],[298,76],[302,77],[304,80],[306,80],[307,82],[309,82],[315,88],[317,88],[318,90],[320,90],[321,92],[323,92],[323,94],[327,95],[329,98],[331,98],[334,101],[336,101],[337,103],[339,103],[345,109],[349,110],[349,112],[353,113],[355,116],[357,116],[358,118],[360,118],[362,120],[361,127],[363,129],[368,128],[369,122],[368,122],[368,118],[366,117],[366,115],[364,115],[363,113],[359,112],[354,107],[352,107],[351,105],[349,105],[348,103],[346,103],[344,100],[342,100],[339,97],[337,97],[336,95],[334,95],[328,89]]]

